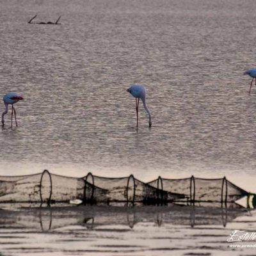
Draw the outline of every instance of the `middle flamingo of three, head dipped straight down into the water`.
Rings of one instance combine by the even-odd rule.
[[[143,85],[134,84],[130,88],[127,89],[127,92],[131,93],[131,95],[136,99],[136,112],[137,112],[137,127],[138,127],[138,119],[139,119],[139,102],[140,99],[143,102],[143,106],[148,113],[148,125],[151,127],[151,113],[147,108],[146,104],[146,89]]]

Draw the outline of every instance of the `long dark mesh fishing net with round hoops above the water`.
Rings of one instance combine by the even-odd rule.
[[[162,179],[145,183],[133,175],[106,178],[88,173],[85,177],[65,177],[42,173],[0,176],[0,202],[70,202],[84,204],[126,202],[163,204],[167,202],[235,202],[249,195],[225,177],[223,179]]]

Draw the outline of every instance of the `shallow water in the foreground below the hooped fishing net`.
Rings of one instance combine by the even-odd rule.
[[[239,209],[236,205],[2,210],[1,253],[248,255],[255,250],[231,250],[227,239],[235,229],[253,231],[255,220],[255,211]]]

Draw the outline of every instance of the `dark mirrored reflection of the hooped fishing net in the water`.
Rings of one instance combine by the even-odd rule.
[[[6,207],[6,204],[4,206]],[[246,212],[248,209],[238,204],[227,204],[226,207],[216,207],[211,204],[204,205],[204,207],[196,205],[24,207],[19,211],[1,209],[0,227],[33,228],[43,232],[70,225],[81,225],[89,230],[104,225],[124,225],[133,228],[141,222],[156,223],[159,227],[170,223],[190,227],[198,225],[226,227],[228,222],[232,222],[237,216],[242,216]]]

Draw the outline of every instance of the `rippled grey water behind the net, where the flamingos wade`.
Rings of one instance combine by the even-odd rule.
[[[252,3],[1,1],[0,91],[25,98],[0,133],[1,173],[255,177]],[[141,105],[136,131],[132,83],[152,129]]]

